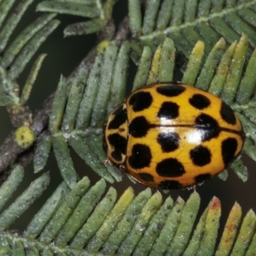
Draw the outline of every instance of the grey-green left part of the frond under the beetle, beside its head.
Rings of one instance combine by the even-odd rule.
[[[99,135],[102,134],[107,112],[124,99],[128,52],[127,43],[119,51],[110,44],[104,54],[97,56],[90,72],[84,66],[77,71],[68,99],[67,81],[61,77],[52,105],[49,130],[61,175],[70,188],[76,184],[77,176],[68,144],[104,179],[114,182],[122,178],[111,166],[102,164],[106,156]],[[109,95],[113,95],[111,102]],[[50,148],[49,137],[38,145],[34,161],[36,172],[44,168]]]

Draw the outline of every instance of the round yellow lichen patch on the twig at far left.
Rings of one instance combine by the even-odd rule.
[[[35,134],[28,126],[20,126],[14,133],[14,140],[22,148],[30,147],[35,141]]]

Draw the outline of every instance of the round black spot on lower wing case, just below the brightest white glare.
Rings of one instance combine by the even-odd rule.
[[[207,147],[197,146],[190,150],[190,158],[197,166],[211,163],[211,152]]]

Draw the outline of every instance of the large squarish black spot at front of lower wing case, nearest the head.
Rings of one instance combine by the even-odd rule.
[[[141,169],[149,166],[151,159],[151,151],[147,145],[135,144],[128,161],[131,168]]]

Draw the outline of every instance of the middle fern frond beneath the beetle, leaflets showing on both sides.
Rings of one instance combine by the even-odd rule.
[[[256,149],[253,143],[256,140],[253,132],[256,129],[253,97],[256,77],[250,74],[250,70],[255,68],[256,58],[253,52],[245,66],[247,45],[248,38],[243,35],[239,42],[231,44],[225,51],[225,40],[221,38],[204,60],[204,43],[199,41],[191,52],[182,83],[218,95],[234,108],[248,135],[244,152],[255,159],[252,149]],[[51,136],[45,136],[36,149],[35,172],[44,168],[52,145],[61,175],[72,188],[77,182],[77,175],[68,149],[70,145],[100,177],[108,182],[122,179],[122,174],[113,166],[103,164],[106,155],[102,150],[101,134],[108,113],[124,100],[129,51],[127,43],[119,51],[113,43],[109,44],[106,51],[97,56],[90,71],[81,66],[71,81],[69,93],[68,83],[61,77],[50,115]],[[172,81],[174,66],[175,46],[169,38],[157,47],[154,56],[145,47],[132,90],[145,84]],[[244,68],[243,74],[241,70]],[[245,81],[249,88],[244,86]],[[247,168],[241,159],[236,159],[230,167],[240,179],[248,179]],[[219,177],[227,179],[227,171]]]

